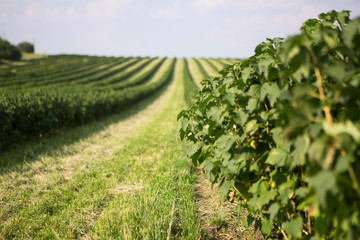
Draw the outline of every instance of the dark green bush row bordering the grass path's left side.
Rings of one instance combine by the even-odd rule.
[[[163,87],[175,59],[156,81],[123,90],[68,90],[0,93],[0,149],[29,137],[47,135],[122,111]]]

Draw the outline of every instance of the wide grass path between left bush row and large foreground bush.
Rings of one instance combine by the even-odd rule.
[[[183,67],[136,114],[64,133],[68,144],[50,138],[2,155],[0,238],[198,239],[194,177],[177,139]]]

